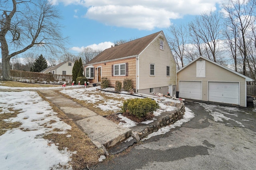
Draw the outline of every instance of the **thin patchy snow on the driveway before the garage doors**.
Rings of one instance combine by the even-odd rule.
[[[225,115],[232,115],[232,116],[238,117],[237,114],[226,112],[226,111],[241,111],[238,108],[228,107],[228,106],[219,106],[219,105],[217,106],[217,105],[213,105],[213,104],[205,104],[205,103],[200,103],[200,102],[196,102],[196,103],[198,103],[198,104],[200,104],[200,106],[204,107],[204,109],[206,111],[208,111],[210,115],[213,116],[214,121],[223,121],[223,119],[225,119],[226,121],[232,120],[232,121],[235,121],[238,125],[244,127],[244,125],[240,121],[236,121],[234,119],[231,119],[230,117],[225,116]],[[222,108],[226,111],[221,111],[218,108]]]

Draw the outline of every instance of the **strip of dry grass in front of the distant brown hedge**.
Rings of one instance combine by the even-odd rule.
[[[1,86],[9,86],[9,87],[54,87],[54,86],[60,86],[55,84],[32,84],[32,83],[22,83],[22,82],[16,82],[16,81],[0,81]]]

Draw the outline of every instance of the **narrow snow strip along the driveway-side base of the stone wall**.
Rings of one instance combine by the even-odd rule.
[[[175,127],[180,127],[183,123],[186,123],[195,117],[195,114],[188,107],[185,107],[185,110],[186,111],[185,111],[185,114],[183,115],[183,119],[176,121],[172,125],[168,125],[166,127],[162,127],[161,129],[158,129],[157,132],[153,132],[149,134],[146,138],[142,139],[141,141],[148,140],[153,136],[163,135],[169,132],[171,129],[174,129]]]

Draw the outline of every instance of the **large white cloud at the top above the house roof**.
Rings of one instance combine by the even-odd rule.
[[[84,17],[106,25],[152,30],[166,28],[171,20],[216,10],[224,0],[53,0],[64,5],[76,4],[87,9]]]

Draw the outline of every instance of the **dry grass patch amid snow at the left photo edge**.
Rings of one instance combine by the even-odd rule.
[[[20,122],[6,122],[3,121],[4,119],[9,119],[11,117],[17,117],[17,115],[20,113],[20,110],[13,110],[13,109],[8,109],[10,113],[2,113],[0,114],[0,136],[6,133],[7,130],[12,129],[12,128],[17,128],[20,127],[22,123]]]

